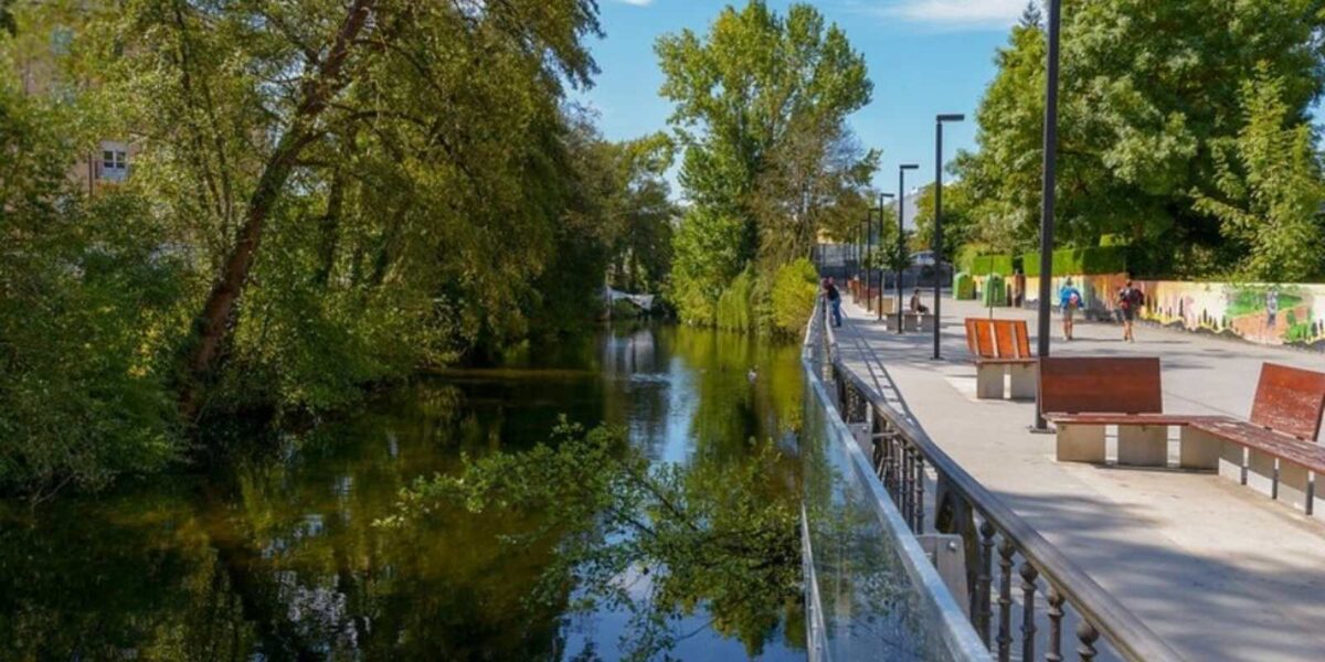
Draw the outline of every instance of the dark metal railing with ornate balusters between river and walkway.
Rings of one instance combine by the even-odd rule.
[[[935,532],[965,542],[969,594],[961,597],[980,641],[999,661],[1040,659],[1041,645],[1043,659],[1067,659],[1064,632],[1072,622],[1083,662],[1101,654],[1134,662],[1182,659],[849,369],[824,308],[816,306],[807,330],[807,368],[835,391],[845,422],[868,426],[874,477],[910,530],[921,535],[931,523]],[[933,486],[929,500],[926,485]]]

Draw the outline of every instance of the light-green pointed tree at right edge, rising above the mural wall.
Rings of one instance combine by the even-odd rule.
[[[1268,66],[1243,83],[1246,126],[1215,155],[1220,197],[1196,193],[1196,208],[1246,246],[1243,275],[1268,282],[1325,273],[1325,181],[1312,127],[1292,117],[1284,83]]]

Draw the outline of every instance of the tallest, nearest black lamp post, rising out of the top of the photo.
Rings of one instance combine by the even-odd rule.
[[[1053,195],[1057,180],[1059,150],[1059,24],[1061,23],[1063,1],[1049,0],[1049,49],[1045,54],[1044,79],[1044,181],[1040,191],[1040,302],[1036,324],[1036,354],[1040,359],[1049,356],[1049,297],[1053,281]],[[1035,391],[1035,428],[1048,432],[1044,414],[1040,412],[1040,393]]]

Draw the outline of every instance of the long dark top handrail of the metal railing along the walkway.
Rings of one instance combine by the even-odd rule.
[[[816,307],[818,310],[818,307]],[[1141,618],[1122,606],[1108,591],[1100,587],[1089,575],[1077,568],[1071,559],[1045,540],[1039,532],[1012,512],[1002,499],[988,491],[961,465],[947,455],[928,433],[901,412],[889,405],[878,393],[869,388],[860,375],[849,369],[837,352],[832,324],[824,324],[828,339],[828,359],[841,375],[855,384],[876,412],[884,414],[888,422],[910,444],[918,448],[930,465],[946,478],[946,485],[966,498],[984,518],[994,524],[1016,549],[1036,569],[1045,576],[1076,610],[1093,625],[1110,645],[1126,659],[1138,662],[1159,662],[1183,659],[1173,647],[1147,628]]]

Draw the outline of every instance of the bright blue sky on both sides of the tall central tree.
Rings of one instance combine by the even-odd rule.
[[[670,105],[659,98],[662,74],[653,54],[659,36],[698,33],[726,4],[745,0],[599,0],[607,37],[594,45],[602,74],[580,101],[596,110],[610,139],[666,127]],[[768,0],[784,12],[787,0]],[[934,115],[965,113],[943,131],[945,159],[974,144],[974,113],[994,77],[994,50],[1026,0],[819,0],[811,1],[865,56],[873,102],[851,118],[867,147],[884,151],[876,185],[897,189],[897,164],[918,163],[908,189],[934,179]],[[680,192],[677,192],[680,193]]]

